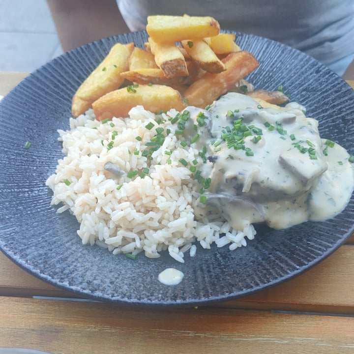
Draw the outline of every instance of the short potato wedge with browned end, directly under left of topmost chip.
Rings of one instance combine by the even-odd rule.
[[[148,42],[156,64],[163,70],[166,77],[188,75],[186,61],[174,42],[161,44],[155,42],[151,37],[148,38]]]

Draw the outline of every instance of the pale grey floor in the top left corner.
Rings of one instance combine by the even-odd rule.
[[[0,0],[0,71],[32,72],[62,54],[45,0]]]

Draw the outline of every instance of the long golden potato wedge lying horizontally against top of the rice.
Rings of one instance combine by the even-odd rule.
[[[129,111],[138,105],[154,113],[171,108],[181,111],[186,107],[180,93],[169,86],[139,85],[108,92],[93,102],[92,108],[96,119],[103,120],[128,117]]]

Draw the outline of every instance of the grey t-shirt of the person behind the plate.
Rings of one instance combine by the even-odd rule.
[[[212,16],[221,29],[267,37],[324,64],[354,53],[354,0],[119,0],[130,30],[148,15]]]

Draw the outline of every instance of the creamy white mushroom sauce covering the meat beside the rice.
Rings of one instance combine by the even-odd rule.
[[[195,118],[195,110],[190,110]],[[326,220],[348,204],[354,189],[350,155],[338,144],[326,146],[318,121],[306,117],[301,105],[263,108],[251,97],[228,93],[203,112],[207,119],[197,148],[207,146],[211,156],[203,165],[203,177],[210,177],[211,184],[207,203],[195,206],[197,217],[216,210],[237,230],[257,222],[283,229]],[[225,127],[233,128],[239,118],[251,130],[262,130],[243,139],[252,156],[228,148],[221,139]],[[255,136],[260,137],[257,143]]]

